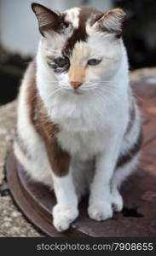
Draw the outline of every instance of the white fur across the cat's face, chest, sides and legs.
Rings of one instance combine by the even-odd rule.
[[[78,19],[78,9],[74,9],[75,12]],[[71,16],[72,10],[68,12],[67,19]],[[78,20],[74,21],[74,26],[77,23]],[[136,156],[130,164],[114,172],[118,155],[133,146],[140,127],[136,107],[136,123],[128,137],[124,137],[132,97],[124,44],[121,39],[114,39],[113,35],[96,32],[95,28],[89,31],[88,42],[75,45],[75,49],[81,49],[83,54],[77,56],[75,51],[72,58],[78,59],[84,66],[93,57],[102,61],[99,67],[88,67],[84,84],[78,89],[79,94],[74,93],[68,74],[53,73],[44,56],[51,50],[61,55],[65,38],[55,36],[55,40],[43,39],[38,48],[38,91],[49,119],[60,127],[57,139],[61,148],[72,158],[65,177],[56,177],[52,172],[43,140],[31,124],[29,106],[26,104],[27,77],[20,90],[17,127],[31,157],[28,159],[16,143],[15,154],[30,177],[51,188],[54,186],[57,205],[53,209],[53,217],[55,228],[59,231],[66,230],[77,218],[78,199],[89,189],[90,218],[98,221],[111,218],[112,204],[120,211],[123,201],[118,186],[132,172],[138,158]],[[90,49],[90,53],[87,54],[86,49]]]

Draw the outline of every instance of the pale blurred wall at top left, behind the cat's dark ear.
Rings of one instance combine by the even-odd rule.
[[[0,44],[20,55],[34,55],[38,47],[38,22],[32,0],[0,0]],[[113,0],[34,0],[58,10],[88,5],[103,11],[113,8]]]

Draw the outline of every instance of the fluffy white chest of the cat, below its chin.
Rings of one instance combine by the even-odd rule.
[[[58,143],[77,158],[93,157],[107,148],[111,134],[122,130],[119,127],[123,126],[124,115],[121,109],[124,108],[120,108],[115,101],[111,106],[109,102],[85,102],[79,108],[75,104],[60,104],[60,108],[54,108],[51,115],[51,119],[60,128],[57,133]],[[118,120],[120,125],[117,125]]]

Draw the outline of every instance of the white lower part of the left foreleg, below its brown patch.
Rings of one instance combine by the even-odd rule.
[[[58,231],[67,230],[78,217],[78,197],[72,183],[72,173],[64,177],[53,175],[57,204],[53,208],[53,224]]]

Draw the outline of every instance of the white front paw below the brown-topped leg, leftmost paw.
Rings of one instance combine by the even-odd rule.
[[[68,230],[70,224],[78,217],[77,208],[62,209],[60,205],[53,208],[53,224],[59,232]]]

